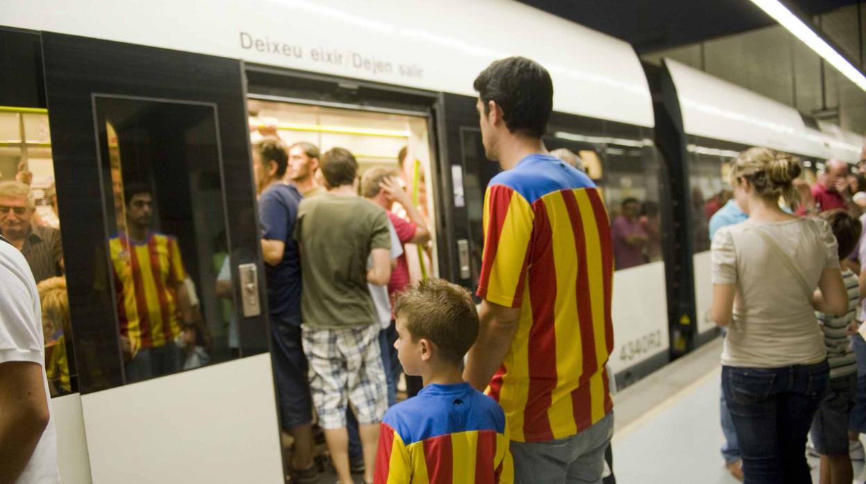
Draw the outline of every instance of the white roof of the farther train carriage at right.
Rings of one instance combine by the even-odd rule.
[[[688,134],[767,146],[816,158],[855,163],[862,137],[820,122],[807,126],[792,106],[771,100],[672,59],[665,59]]]

